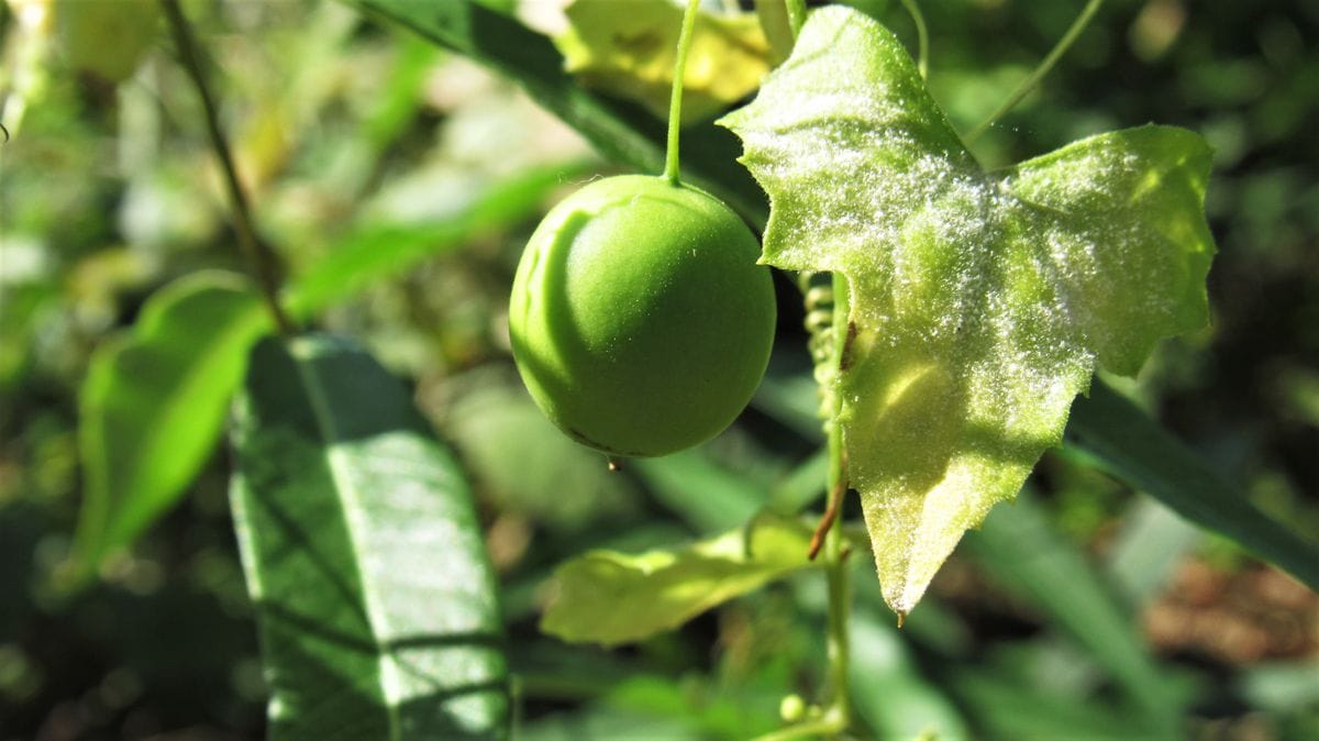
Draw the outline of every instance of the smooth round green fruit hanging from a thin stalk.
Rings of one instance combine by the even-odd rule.
[[[596,181],[555,206],[513,281],[522,381],[574,439],[675,452],[751,401],[774,339],[760,244],[710,194],[662,178]]]

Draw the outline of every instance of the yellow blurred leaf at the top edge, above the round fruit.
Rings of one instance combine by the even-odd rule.
[[[554,40],[583,84],[667,120],[683,9],[671,0],[575,0]],[[700,12],[682,80],[682,125],[715,116],[760,86],[769,42],[754,13]]]

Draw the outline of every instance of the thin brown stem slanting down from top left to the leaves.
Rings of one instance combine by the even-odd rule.
[[[237,171],[233,167],[233,157],[230,154],[224,132],[220,131],[220,117],[215,108],[215,99],[211,96],[211,88],[206,84],[206,75],[202,73],[197,41],[193,38],[187,18],[183,17],[183,11],[179,8],[178,0],[161,0],[161,7],[169,21],[174,45],[178,47],[179,61],[187,71],[187,76],[193,80],[198,96],[202,99],[211,149],[215,150],[215,156],[220,161],[224,183],[230,193],[230,206],[233,212],[233,228],[237,232],[239,249],[241,249],[249,269],[256,277],[257,285],[261,287],[261,295],[270,310],[274,326],[281,335],[291,336],[295,334],[294,324],[280,306],[278,258],[256,235],[247,194],[243,190],[243,183],[239,182]]]

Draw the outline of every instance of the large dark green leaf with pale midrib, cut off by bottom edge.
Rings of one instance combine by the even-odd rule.
[[[256,347],[232,488],[270,738],[485,738],[508,723],[471,494],[408,392],[326,336]]]

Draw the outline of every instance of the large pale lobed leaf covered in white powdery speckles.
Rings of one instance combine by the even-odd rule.
[[[897,40],[842,8],[723,123],[772,199],[764,258],[849,281],[839,421],[906,613],[1097,364],[1134,373],[1206,322],[1208,148],[1145,127],[987,174]]]

